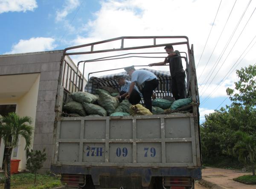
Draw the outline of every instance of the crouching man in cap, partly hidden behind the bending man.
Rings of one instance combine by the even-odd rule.
[[[122,102],[129,93],[131,81],[125,80],[123,75],[114,76],[114,79],[121,86],[119,96],[116,96],[116,97],[118,98],[119,102]],[[139,89],[136,86],[134,86],[134,89],[132,90],[129,98],[129,102],[132,105],[136,105],[140,102],[141,96],[142,94],[140,93]]]

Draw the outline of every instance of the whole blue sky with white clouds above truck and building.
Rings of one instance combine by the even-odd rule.
[[[204,114],[230,104],[225,90],[234,87],[235,70],[256,62],[255,7],[250,0],[0,0],[0,54],[64,49],[120,36],[186,35],[198,65],[202,122]],[[72,58],[77,62],[84,56]],[[131,61],[120,64],[100,68]],[[92,71],[99,66],[89,65],[86,74]]]

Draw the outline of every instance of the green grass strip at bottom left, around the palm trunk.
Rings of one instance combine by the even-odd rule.
[[[3,177],[4,174],[0,174]],[[12,174],[12,189],[49,189],[55,186],[61,186],[61,180],[58,177],[52,177],[49,174],[37,174],[34,185],[35,175],[31,173]],[[3,179],[0,179],[0,188],[4,188]]]

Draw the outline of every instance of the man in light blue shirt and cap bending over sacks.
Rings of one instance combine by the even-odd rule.
[[[151,96],[153,90],[158,86],[157,76],[148,70],[135,70],[134,66],[126,67],[125,71],[129,76],[131,76],[130,89],[126,98],[130,98],[132,90],[135,86],[135,82],[137,82],[138,85],[144,83],[144,87],[141,92],[143,95],[145,107],[152,112]]]

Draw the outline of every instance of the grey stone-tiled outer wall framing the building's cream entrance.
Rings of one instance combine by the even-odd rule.
[[[20,107],[18,112],[25,115],[26,113],[36,111],[33,112],[36,114],[33,149],[43,150],[46,148],[47,152],[47,160],[41,172],[49,170],[51,164],[54,145],[52,142],[52,132],[55,120],[55,96],[62,55],[62,51],[0,55],[0,76],[40,73],[40,79],[38,78],[38,96],[32,98],[28,93],[28,96],[23,97],[23,102],[20,101],[20,104],[26,107],[25,104],[27,102],[34,102],[35,98],[37,98],[37,107],[34,110],[31,108],[22,113],[20,111],[24,110],[24,108]],[[36,86],[33,87],[35,87],[34,90],[37,88]],[[23,165],[21,166],[23,167]]]

